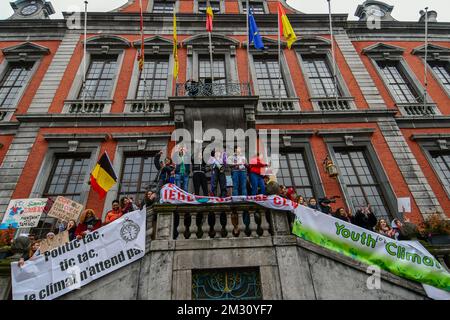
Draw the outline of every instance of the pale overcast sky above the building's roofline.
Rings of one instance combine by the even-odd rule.
[[[13,0],[0,0],[0,19],[12,14],[9,2]],[[327,13],[327,0],[287,0],[290,5],[304,13]],[[61,12],[83,11],[83,0],[52,0],[57,14],[52,18],[61,18]],[[110,11],[127,0],[90,0],[89,11]],[[364,0],[332,0],[333,12],[348,13],[350,19],[356,19],[354,13],[358,4]],[[430,10],[438,12],[438,21],[450,21],[449,0],[386,0],[394,5],[393,17],[401,21],[418,21],[419,11],[428,6]],[[78,8],[78,9],[77,9]],[[81,9],[80,9],[81,8]]]

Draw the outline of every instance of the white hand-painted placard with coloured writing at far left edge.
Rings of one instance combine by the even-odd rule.
[[[3,217],[1,229],[8,226],[16,229],[37,227],[47,201],[47,198],[11,200]]]

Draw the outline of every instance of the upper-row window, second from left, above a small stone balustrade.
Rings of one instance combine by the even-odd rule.
[[[109,99],[116,74],[117,57],[92,56],[86,74],[86,99]],[[79,99],[83,98],[83,88]]]

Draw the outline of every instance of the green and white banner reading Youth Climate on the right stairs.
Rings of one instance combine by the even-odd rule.
[[[425,248],[418,250],[407,241],[390,239],[308,207],[298,206],[295,215],[292,233],[296,236],[400,277],[442,289],[439,299],[450,299],[450,273]]]

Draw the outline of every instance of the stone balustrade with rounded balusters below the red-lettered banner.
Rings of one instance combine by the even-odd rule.
[[[171,240],[259,238],[274,235],[271,210],[253,204],[158,205],[152,210],[158,221],[157,230],[151,232],[156,240],[161,236],[158,234],[161,224],[165,225],[165,237],[168,236]],[[170,227],[167,225],[169,221]]]

